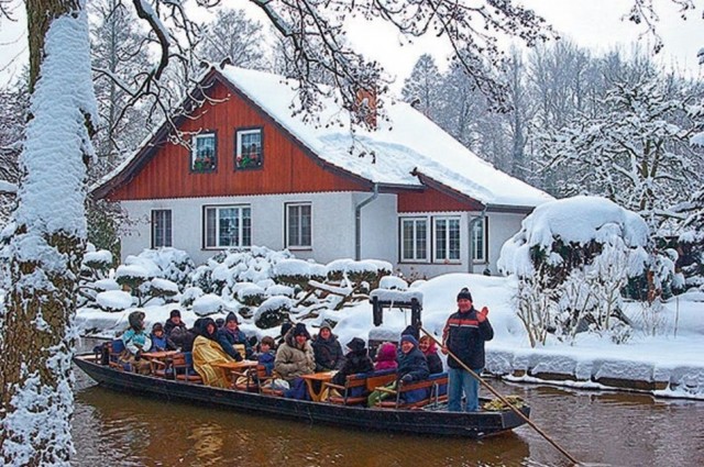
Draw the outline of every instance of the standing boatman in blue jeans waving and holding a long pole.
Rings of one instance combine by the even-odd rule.
[[[480,381],[466,369],[476,375],[484,369],[484,342],[494,337],[494,330],[486,315],[488,309],[476,311],[472,304],[472,293],[465,287],[458,293],[458,311],[448,318],[442,331],[442,353],[448,357],[448,410],[462,411],[462,393],[466,398],[466,412],[476,412],[480,408]],[[454,358],[453,358],[454,357]],[[457,358],[457,359],[455,359]],[[459,362],[458,362],[459,360]]]

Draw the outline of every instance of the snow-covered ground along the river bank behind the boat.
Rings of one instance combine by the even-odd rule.
[[[531,348],[512,304],[515,288],[512,278],[451,274],[417,285],[413,290],[424,294],[426,330],[441,335],[448,315],[455,310],[455,297],[462,287],[470,288],[475,307],[490,308],[488,318],[495,331],[494,340],[486,345],[486,369],[491,373],[524,381],[536,381],[530,374],[563,375],[568,380],[553,382],[581,388],[604,388],[596,382],[600,379],[634,381],[632,387],[658,381],[664,385],[650,391],[656,396],[704,399],[704,294],[701,292],[664,303],[654,318],[644,318],[642,307],[630,303],[627,314],[637,323],[637,329],[625,344],[617,345],[609,337],[595,334],[580,334],[573,345],[554,340]],[[150,329],[156,321],[164,322],[174,308],[178,305],[144,308]],[[84,333],[97,330],[98,335],[111,336],[127,327],[130,311],[107,313],[80,309],[77,320]],[[182,315],[189,325],[196,319],[191,310],[182,309]],[[384,324],[375,329],[371,304],[364,302],[338,312],[324,311],[307,324],[316,332],[316,326],[326,318],[338,321],[334,333],[342,344],[354,336],[367,338],[370,332],[397,335],[410,323],[409,311],[392,310],[385,313]],[[278,329],[258,330],[246,320],[241,327],[258,337],[278,335]],[[654,336],[649,331],[652,329],[656,329]],[[514,376],[516,370],[527,374]]]

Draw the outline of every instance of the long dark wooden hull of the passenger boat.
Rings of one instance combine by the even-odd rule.
[[[237,410],[286,416],[308,423],[470,438],[495,435],[526,423],[510,410],[461,413],[448,412],[442,410],[443,405],[435,404],[414,410],[367,409],[359,405],[300,401],[258,392],[213,388],[121,371],[108,365],[101,365],[95,354],[77,355],[74,357],[74,363],[106,388],[166,399],[216,403]],[[530,414],[528,407],[520,410],[526,416]]]

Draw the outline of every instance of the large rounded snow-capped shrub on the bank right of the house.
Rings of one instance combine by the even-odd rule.
[[[646,270],[648,248],[645,221],[606,199],[575,197],[536,208],[498,262],[504,274],[518,277],[518,316],[531,345],[544,343],[548,333],[571,342],[578,332],[608,333],[616,331],[615,320],[628,323],[622,291]]]

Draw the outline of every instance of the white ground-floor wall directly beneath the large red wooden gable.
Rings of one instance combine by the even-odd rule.
[[[204,249],[202,207],[249,204],[252,209],[252,243],[283,249],[284,205],[310,202],[312,205],[312,248],[292,249],[296,257],[320,264],[338,258],[354,258],[354,207],[370,193],[296,193],[254,197],[210,197],[123,201],[132,225],[122,235],[122,259],[151,247],[151,211],[170,209],[173,246],[186,251],[196,264],[217,253]],[[396,197],[381,194],[362,209],[362,258],[385,259],[395,264]]]

